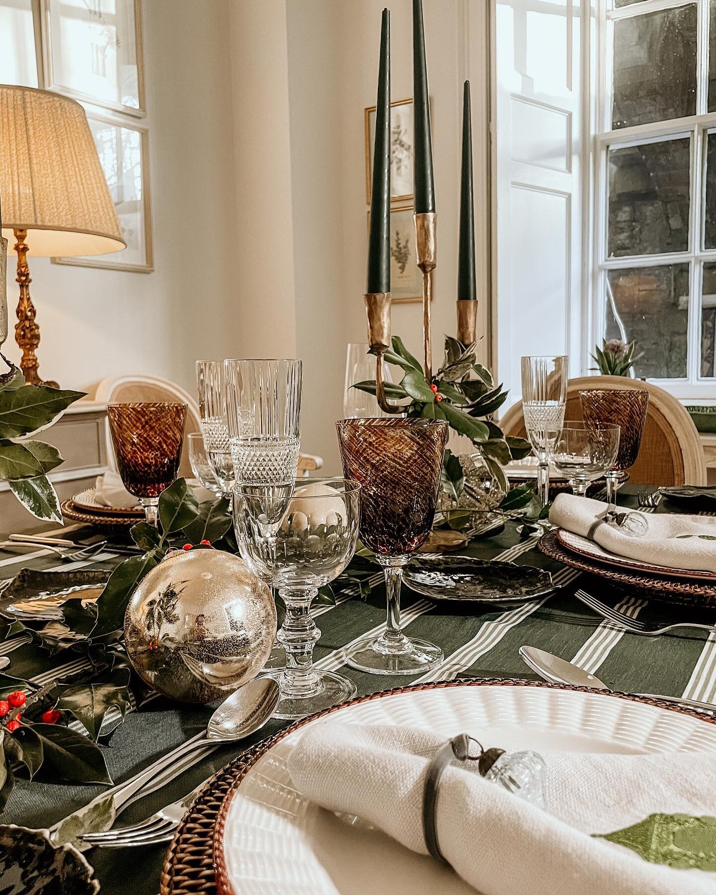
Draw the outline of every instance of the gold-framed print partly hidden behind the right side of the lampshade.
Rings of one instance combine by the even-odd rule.
[[[115,203],[126,249],[107,255],[53,258],[55,264],[150,273],[154,269],[149,203],[149,137],[140,127],[88,115],[99,162]]]

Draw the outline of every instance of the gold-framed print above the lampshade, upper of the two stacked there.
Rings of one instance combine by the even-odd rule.
[[[140,0],[41,0],[48,90],[145,115]]]

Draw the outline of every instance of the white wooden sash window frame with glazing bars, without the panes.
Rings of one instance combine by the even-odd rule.
[[[613,98],[613,24],[638,15],[696,6],[696,114],[652,124],[611,127]],[[638,0],[614,8],[613,0],[599,0],[596,21],[596,60],[594,65],[594,119],[592,141],[593,230],[592,230],[592,341],[601,345],[606,332],[607,276],[610,270],[662,267],[688,263],[689,299],[686,331],[686,379],[652,379],[681,399],[713,396],[716,377],[701,376],[701,319],[703,264],[716,261],[716,248],[703,249],[705,208],[706,141],[716,132],[716,111],[708,112],[709,91],[709,4],[710,0]],[[639,146],[644,143],[690,138],[689,151],[689,227],[687,251],[656,255],[608,256],[609,224],[609,149]],[[637,345],[638,349],[638,345]]]

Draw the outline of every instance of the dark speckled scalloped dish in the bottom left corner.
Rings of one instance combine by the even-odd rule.
[[[0,826],[3,895],[97,895],[94,871],[71,845],[55,846],[47,830]]]

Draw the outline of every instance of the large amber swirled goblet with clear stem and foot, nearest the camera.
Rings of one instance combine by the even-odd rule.
[[[346,647],[344,661],[369,674],[420,674],[443,652],[401,630],[400,584],[405,563],[430,533],[447,422],[380,417],[336,425],[344,475],[362,487],[361,540],[383,567],[388,596],[385,631]]]

